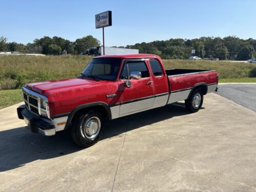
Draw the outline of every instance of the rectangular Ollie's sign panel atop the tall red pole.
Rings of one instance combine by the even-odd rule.
[[[112,12],[105,11],[95,15],[95,27],[96,29],[102,27],[112,26]]]

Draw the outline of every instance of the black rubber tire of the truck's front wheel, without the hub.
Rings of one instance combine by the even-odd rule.
[[[89,138],[89,135],[86,133],[86,124],[89,123],[90,120],[92,122],[94,119],[96,119],[95,122],[98,122],[98,120],[100,121],[100,125],[98,125],[99,123],[97,124],[99,127],[97,130],[99,130],[99,132],[97,135],[95,134],[95,138]],[[71,127],[71,136],[73,141],[77,145],[85,148],[96,144],[104,133],[105,121],[105,118],[97,110],[92,110],[86,114],[78,115],[74,119],[74,123]]]

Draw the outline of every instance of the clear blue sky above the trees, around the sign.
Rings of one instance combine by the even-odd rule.
[[[0,0],[0,36],[27,44],[43,36],[75,41],[93,35],[102,43],[95,14],[107,10],[112,26],[104,28],[105,46],[201,36],[256,39],[255,0]]]

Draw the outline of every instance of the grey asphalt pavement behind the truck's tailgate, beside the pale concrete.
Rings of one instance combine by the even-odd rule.
[[[256,84],[221,84],[218,94],[256,112]]]

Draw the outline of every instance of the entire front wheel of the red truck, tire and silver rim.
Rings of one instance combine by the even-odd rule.
[[[102,137],[104,126],[105,118],[99,111],[92,110],[87,114],[78,115],[71,128],[72,139],[82,147],[92,146]]]

